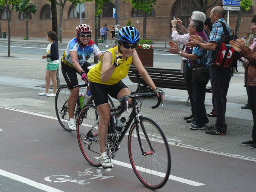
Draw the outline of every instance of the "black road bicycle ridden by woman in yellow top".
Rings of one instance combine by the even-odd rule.
[[[121,105],[111,108],[111,119],[108,126],[106,140],[106,151],[110,160],[115,157],[116,151],[120,149],[122,139],[128,134],[128,154],[132,169],[141,183],[150,189],[160,189],[169,179],[171,171],[171,154],[166,137],[156,122],[140,115],[140,108],[147,96],[156,93],[137,93],[123,96],[119,99]],[[163,91],[161,91],[163,95]],[[146,97],[145,97],[146,96]],[[142,98],[143,97],[143,98]],[[128,99],[131,104],[128,105]],[[157,108],[162,96],[157,97]],[[138,105],[138,103],[140,105]],[[116,115],[121,114],[126,108],[132,108],[124,127],[119,131],[116,129]],[[84,158],[92,166],[99,167],[99,113],[94,105],[85,105],[80,111],[78,121],[83,123],[77,125],[77,139]]]

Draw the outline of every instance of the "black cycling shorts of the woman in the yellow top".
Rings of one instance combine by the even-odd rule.
[[[117,84],[108,85],[101,83],[90,82],[90,92],[93,96],[95,105],[101,105],[108,103],[108,95],[117,99],[117,94],[123,88],[128,88],[122,81],[119,81]]]

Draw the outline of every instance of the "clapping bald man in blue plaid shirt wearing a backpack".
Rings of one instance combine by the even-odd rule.
[[[213,23],[212,31],[209,35],[209,43],[203,41],[197,36],[192,36],[190,42],[186,45],[190,47],[201,47],[209,50],[207,53],[207,67],[209,67],[210,80],[212,84],[212,99],[214,100],[214,108],[216,110],[217,119],[215,125],[206,130],[206,134],[225,135],[227,132],[227,124],[225,122],[226,104],[227,104],[227,90],[231,78],[232,69],[218,67],[213,64],[212,53],[218,47],[218,43],[224,35],[221,23],[223,21],[228,32],[231,29],[224,20],[225,10],[221,6],[214,7],[210,12],[210,19]]]

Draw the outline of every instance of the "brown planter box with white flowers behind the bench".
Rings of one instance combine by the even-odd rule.
[[[144,67],[153,67],[154,49],[148,44],[137,44],[136,51]]]

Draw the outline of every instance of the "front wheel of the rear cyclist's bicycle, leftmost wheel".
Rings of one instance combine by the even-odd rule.
[[[67,119],[69,118],[67,100],[70,96],[70,90],[67,85],[61,85],[58,88],[58,91],[55,96],[55,112],[58,118],[58,122],[61,124],[61,127],[66,131],[72,131],[67,125]]]

